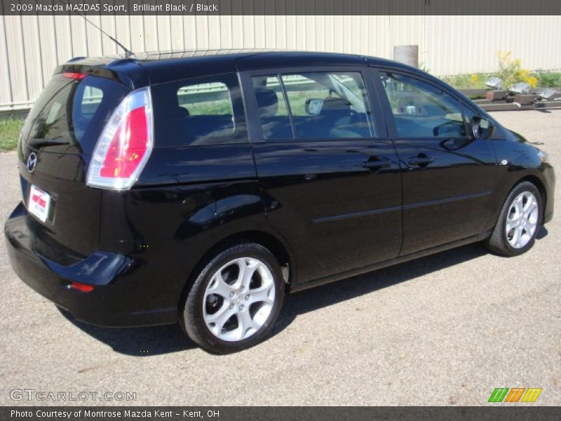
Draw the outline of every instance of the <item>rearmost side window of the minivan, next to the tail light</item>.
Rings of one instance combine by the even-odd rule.
[[[247,142],[236,74],[151,87],[156,147]]]

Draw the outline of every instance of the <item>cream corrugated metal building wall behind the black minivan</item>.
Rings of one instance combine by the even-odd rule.
[[[561,16],[88,18],[136,52],[288,48],[392,58],[393,46],[418,44],[421,65],[440,76],[492,72],[499,50],[512,51],[529,69],[561,68]],[[0,110],[29,107],[56,65],[70,58],[115,53],[119,48],[79,16],[1,15]]]

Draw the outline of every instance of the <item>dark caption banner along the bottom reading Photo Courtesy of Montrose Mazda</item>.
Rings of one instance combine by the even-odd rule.
[[[222,420],[222,421],[539,421],[559,420],[560,407],[471,406],[471,407],[149,407],[149,406],[21,406],[1,407],[2,421],[137,421],[137,420]]]

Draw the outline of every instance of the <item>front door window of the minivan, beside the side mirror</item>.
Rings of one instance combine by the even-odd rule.
[[[459,101],[439,88],[400,74],[382,73],[400,138],[466,136]]]

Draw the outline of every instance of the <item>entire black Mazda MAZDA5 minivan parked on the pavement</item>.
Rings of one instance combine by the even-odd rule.
[[[81,58],[18,146],[18,276],[77,319],[255,345],[287,291],[553,216],[548,156],[396,62],[289,52]]]

